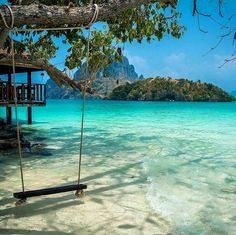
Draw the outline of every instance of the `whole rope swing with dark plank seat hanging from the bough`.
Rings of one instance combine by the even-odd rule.
[[[80,154],[79,154],[79,169],[78,169],[78,182],[77,184],[72,185],[66,185],[66,186],[59,186],[59,187],[51,187],[51,188],[44,188],[44,189],[38,189],[38,190],[31,190],[31,191],[25,191],[25,184],[24,184],[24,174],[23,174],[23,164],[22,164],[22,151],[21,151],[21,142],[20,142],[20,126],[18,121],[18,103],[17,103],[17,97],[16,97],[16,78],[15,78],[15,54],[14,54],[14,41],[13,41],[13,25],[14,25],[14,15],[11,11],[10,6],[7,5],[7,8],[9,9],[11,13],[11,26],[8,26],[5,22],[5,19],[3,18],[2,14],[1,17],[5,23],[5,26],[7,29],[11,32],[11,50],[12,50],[12,69],[13,69],[13,83],[14,83],[14,102],[15,102],[15,115],[16,115],[16,127],[17,127],[17,141],[18,141],[18,151],[19,151],[19,159],[20,159],[20,174],[21,174],[21,184],[22,184],[22,192],[16,192],[13,193],[13,196],[18,199],[16,202],[16,206],[20,206],[22,203],[25,203],[27,198],[30,197],[37,197],[37,196],[44,196],[44,195],[51,195],[51,194],[57,194],[57,193],[64,193],[64,192],[70,192],[70,191],[76,191],[75,195],[77,197],[83,197],[84,196],[84,189],[87,189],[87,185],[80,184],[80,177],[81,177],[81,166],[82,166],[82,150],[83,150],[83,134],[84,134],[84,113],[85,113],[85,98],[86,98],[86,88],[89,84],[89,81],[87,79],[88,77],[88,58],[89,58],[89,50],[90,50],[90,27],[91,25],[96,22],[98,13],[99,13],[99,7],[97,4],[94,4],[95,6],[95,12],[94,16],[91,20],[91,22],[85,26],[86,29],[88,29],[88,43],[87,43],[87,53],[86,53],[86,77],[85,77],[85,86],[82,89],[82,120],[81,120],[81,133],[80,133]],[[0,12],[1,13],[1,12]],[[68,28],[54,28],[54,29],[46,29],[46,30],[67,30]],[[71,28],[69,28],[71,29]],[[40,29],[42,30],[42,29]]]

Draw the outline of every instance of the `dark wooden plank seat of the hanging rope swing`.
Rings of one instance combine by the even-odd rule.
[[[57,193],[65,193],[75,190],[82,190],[86,189],[87,185],[84,184],[74,184],[74,185],[67,185],[67,186],[60,186],[54,188],[45,188],[45,189],[38,189],[38,190],[31,190],[25,192],[18,192],[14,193],[13,196],[17,199],[26,199],[28,197],[38,197],[44,195],[51,195]]]

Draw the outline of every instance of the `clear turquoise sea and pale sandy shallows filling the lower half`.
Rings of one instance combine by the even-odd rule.
[[[80,101],[35,109],[23,151],[26,189],[76,183]],[[15,151],[1,152],[0,234],[233,234],[235,116],[231,103],[88,101],[81,183],[19,208]]]

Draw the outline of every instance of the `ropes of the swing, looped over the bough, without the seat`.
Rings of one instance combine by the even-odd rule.
[[[9,26],[6,22],[4,14],[0,10],[0,16],[4,23],[6,29],[8,29],[11,33],[11,53],[12,53],[12,70],[13,70],[13,84],[14,84],[14,106],[15,106],[15,116],[16,116],[16,129],[17,129],[17,144],[18,144],[18,152],[19,152],[19,159],[20,159],[20,175],[21,175],[21,185],[22,191],[25,192],[25,183],[24,183],[24,173],[23,173],[23,157],[22,157],[22,148],[21,148],[21,140],[20,140],[20,125],[19,125],[19,118],[18,118],[18,101],[17,101],[17,85],[16,85],[16,67],[15,67],[15,51],[14,51],[14,14],[9,5],[6,5],[10,12],[11,16],[11,25]],[[90,37],[91,37],[91,26],[97,21],[98,14],[99,14],[99,6],[94,4],[95,11],[92,17],[92,20],[89,22],[88,25],[84,26],[88,29],[88,42],[87,42],[87,51],[86,51],[86,71],[85,71],[85,85],[82,89],[82,120],[81,120],[81,132],[80,132],[80,153],[79,153],[79,169],[78,169],[78,184],[80,183],[81,179],[81,166],[82,166],[82,155],[83,155],[83,136],[84,136],[84,116],[85,116],[85,100],[86,100],[86,89],[89,86],[89,55],[90,55]],[[62,28],[49,28],[49,29],[22,29],[18,30],[18,32],[28,32],[28,31],[52,31],[52,30],[71,30],[71,29],[78,29],[81,27],[62,27]],[[80,193],[80,192],[77,192]]]

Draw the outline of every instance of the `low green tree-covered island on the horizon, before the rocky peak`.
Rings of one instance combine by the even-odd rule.
[[[212,84],[161,77],[126,83],[115,88],[108,98],[146,101],[233,101],[232,96]]]

